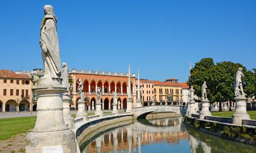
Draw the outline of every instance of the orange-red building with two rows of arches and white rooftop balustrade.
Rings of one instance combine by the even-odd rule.
[[[75,107],[77,109],[77,101],[80,98],[80,95],[77,92],[77,82],[79,79],[81,79],[83,83],[83,94],[84,97],[87,96],[90,98],[91,109],[96,109],[95,103],[97,99],[97,87],[99,87],[101,91],[102,110],[110,110],[113,108],[112,92],[117,92],[117,101],[120,101],[121,109],[127,108],[126,100],[128,99],[128,73],[72,69],[69,74],[72,78],[72,81],[70,81],[72,82],[70,83],[70,86],[72,86],[72,88],[70,88],[72,98],[71,107]],[[135,73],[131,74],[131,91],[132,99],[136,104],[136,86],[134,83]],[[94,106],[94,108],[92,108],[92,106]],[[120,107],[118,109],[120,109]]]

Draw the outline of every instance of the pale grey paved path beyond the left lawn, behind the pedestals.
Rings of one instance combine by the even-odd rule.
[[[95,110],[90,111],[94,113]],[[111,110],[102,110],[102,112],[111,112]],[[13,118],[13,117],[27,117],[27,116],[36,116],[37,112],[0,112],[0,118]],[[71,114],[76,114],[77,111],[70,111]]]

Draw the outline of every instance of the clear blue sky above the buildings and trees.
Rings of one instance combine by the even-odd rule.
[[[256,67],[256,1],[3,1],[0,69],[43,68],[44,5],[57,17],[61,62],[70,70],[138,73],[186,81],[189,62],[211,57]]]

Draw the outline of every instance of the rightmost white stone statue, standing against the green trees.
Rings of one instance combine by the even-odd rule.
[[[234,78],[234,95],[236,96],[239,96],[241,93],[242,95],[245,95],[243,91],[243,85],[242,85],[242,79],[244,78],[244,74],[242,70],[243,70],[242,67],[239,67],[236,73],[236,77]]]

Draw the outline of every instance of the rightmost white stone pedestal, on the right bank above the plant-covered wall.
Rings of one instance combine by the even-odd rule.
[[[246,99],[245,95],[234,98],[236,100],[236,111],[232,115],[233,124],[242,124],[242,119],[250,119],[250,115],[246,112]]]

